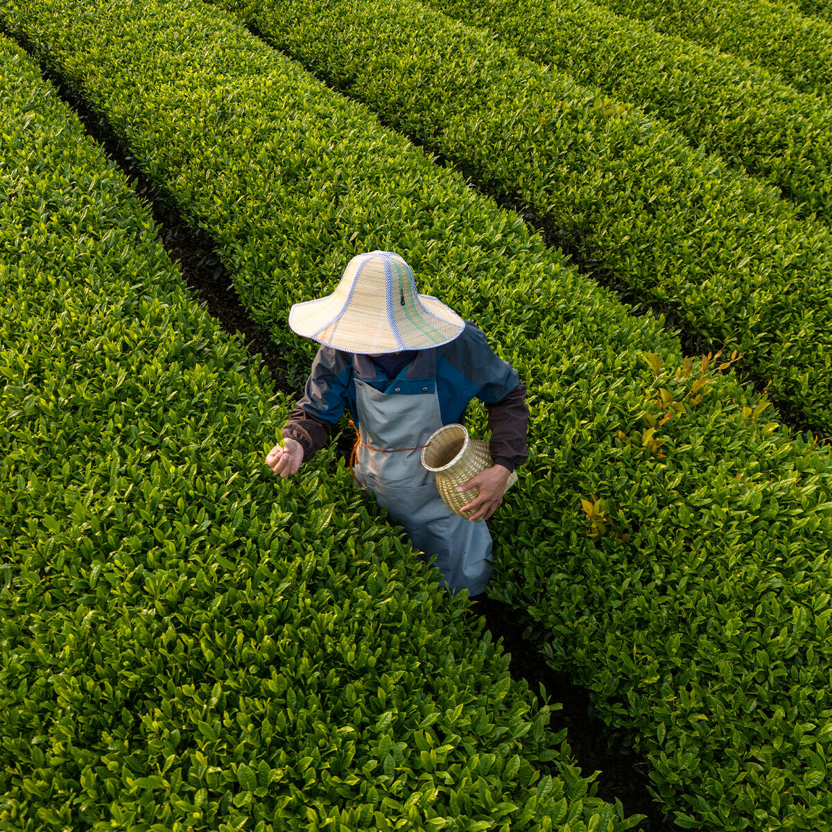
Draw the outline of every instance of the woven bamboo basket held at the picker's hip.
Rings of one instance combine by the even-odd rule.
[[[436,488],[448,508],[468,520],[474,513],[473,510],[461,512],[459,509],[478,498],[479,488],[474,487],[463,494],[458,493],[457,488],[476,477],[480,471],[492,467],[494,463],[488,443],[483,439],[471,438],[464,425],[446,424],[433,433],[422,448],[422,464],[436,475]],[[517,481],[518,475],[512,472],[506,483],[506,491]]]

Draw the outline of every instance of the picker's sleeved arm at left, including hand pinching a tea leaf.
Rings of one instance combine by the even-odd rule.
[[[349,356],[321,347],[306,381],[304,396],[289,414],[281,433],[284,446],[275,445],[265,463],[281,477],[297,473],[303,463],[329,442],[347,404],[352,364]]]

